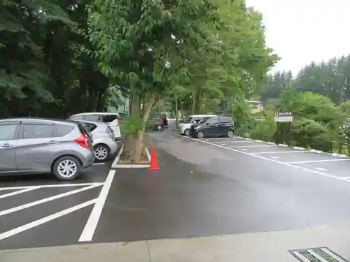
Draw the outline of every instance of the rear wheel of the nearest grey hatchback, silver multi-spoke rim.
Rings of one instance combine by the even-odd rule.
[[[80,175],[81,164],[75,157],[59,157],[55,161],[52,173],[58,180],[73,180]]]

